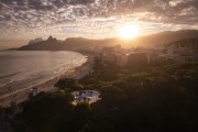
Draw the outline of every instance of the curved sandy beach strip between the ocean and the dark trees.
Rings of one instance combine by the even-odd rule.
[[[30,86],[26,88],[21,88],[16,91],[13,91],[11,95],[7,94],[7,95],[0,97],[0,106],[2,106],[2,107],[10,106],[11,100],[13,100],[16,105],[25,101],[29,98],[31,88],[36,88],[38,90],[38,92],[41,92],[41,91],[53,92],[58,89],[58,88],[54,87],[54,84],[57,82],[61,78],[64,78],[64,77],[69,77],[69,78],[75,78],[75,79],[82,78],[85,75],[87,75],[88,73],[90,73],[92,70],[94,54],[85,54],[84,53],[82,55],[87,56],[87,61],[81,66],[74,67],[74,68],[65,72],[64,74],[58,75],[55,78],[50,79],[47,81],[34,85],[34,86]]]

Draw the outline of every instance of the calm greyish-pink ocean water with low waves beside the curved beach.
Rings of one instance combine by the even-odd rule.
[[[66,51],[0,52],[0,96],[53,79],[86,61],[87,56]]]

